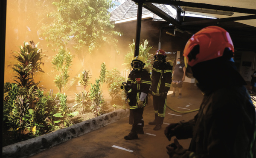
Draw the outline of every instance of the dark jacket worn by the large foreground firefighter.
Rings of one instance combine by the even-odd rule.
[[[198,115],[182,124],[183,138],[192,136],[192,141],[177,158],[256,158],[256,114],[244,86],[205,95]]]

